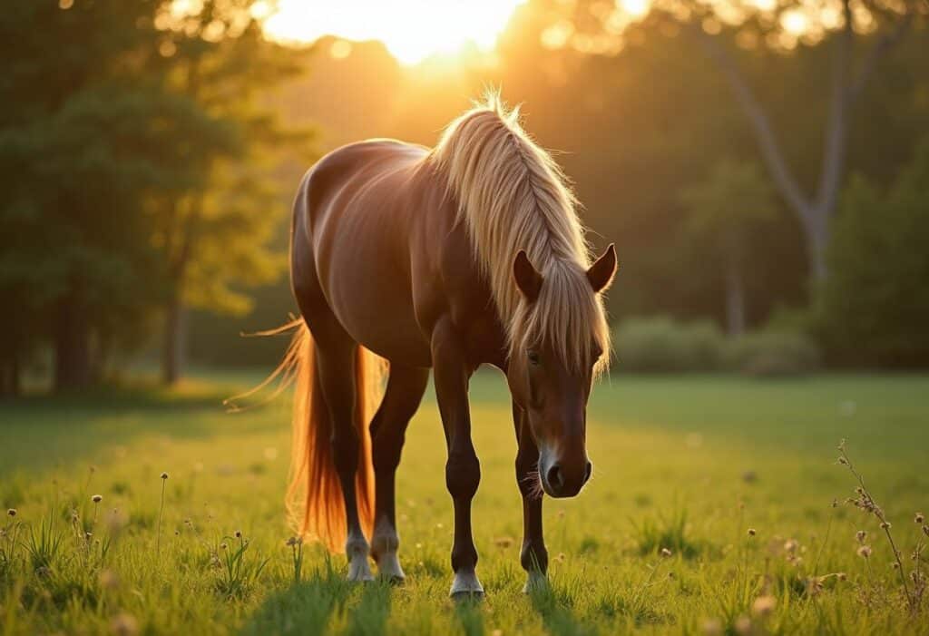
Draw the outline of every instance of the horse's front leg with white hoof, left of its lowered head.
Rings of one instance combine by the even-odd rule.
[[[475,568],[478,551],[471,534],[471,500],[478,491],[480,464],[471,442],[471,413],[467,386],[473,368],[464,354],[464,345],[451,320],[440,320],[432,335],[432,365],[438,410],[448,446],[445,485],[455,510],[455,537],[451,548],[451,569],[455,578],[451,597],[482,596],[484,588]]]

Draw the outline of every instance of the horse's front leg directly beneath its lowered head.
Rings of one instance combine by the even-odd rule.
[[[539,484],[539,448],[529,430],[526,412],[513,403],[513,423],[517,431],[517,485],[523,498],[523,545],[519,562],[529,574],[523,591],[544,584],[548,571],[548,551],[542,535],[542,487]]]

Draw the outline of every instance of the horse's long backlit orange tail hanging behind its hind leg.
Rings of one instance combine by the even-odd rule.
[[[346,541],[345,502],[333,457],[333,422],[322,396],[313,338],[303,319],[279,370],[295,373],[294,439],[287,512],[301,536],[320,539],[331,551],[342,552]],[[355,354],[355,431],[360,440],[355,493],[361,527],[370,537],[374,522],[374,471],[368,424],[376,408],[384,372],[383,360],[362,346]]]

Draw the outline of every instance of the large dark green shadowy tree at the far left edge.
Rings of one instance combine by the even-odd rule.
[[[56,387],[91,383],[113,331],[157,293],[139,202],[186,178],[174,141],[189,130],[163,128],[197,118],[140,72],[156,50],[155,6],[18,0],[0,12],[0,287],[16,307],[4,326],[24,336],[4,353],[12,375],[42,333]]]

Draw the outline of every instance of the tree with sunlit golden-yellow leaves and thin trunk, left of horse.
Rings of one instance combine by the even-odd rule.
[[[257,99],[302,71],[303,52],[268,42],[251,5],[252,0],[207,0],[186,11],[165,5],[156,18],[173,69],[169,88],[224,126],[231,140],[228,146],[202,147],[196,169],[203,180],[160,201],[157,239],[168,282],[165,383],[177,381],[181,372],[188,306],[243,313],[250,300],[237,289],[284,271],[282,254],[268,243],[283,217],[269,160],[283,149],[307,161],[311,155],[310,132],[285,129]]]

